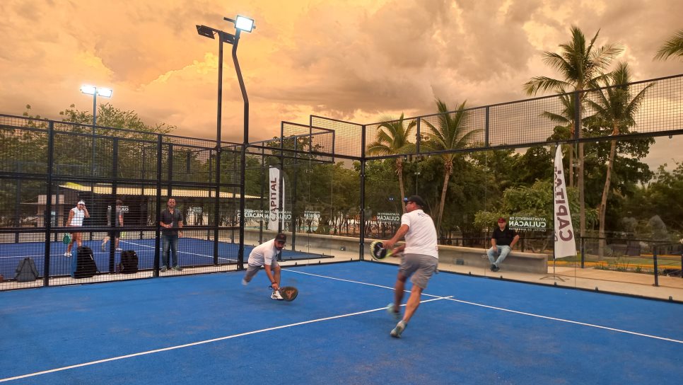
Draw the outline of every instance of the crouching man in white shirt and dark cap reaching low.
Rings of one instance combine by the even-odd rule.
[[[277,263],[277,255],[280,253],[282,248],[284,248],[287,242],[287,236],[285,234],[279,233],[275,236],[275,239],[261,243],[256,246],[251,253],[249,253],[249,260],[247,265],[247,273],[245,274],[242,285],[249,285],[252,278],[261,269],[261,266],[266,270],[266,275],[268,280],[273,287],[273,294],[271,294],[272,299],[282,301],[282,296],[280,295],[280,265]]]

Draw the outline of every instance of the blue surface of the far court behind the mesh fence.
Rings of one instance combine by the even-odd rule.
[[[93,250],[95,264],[100,272],[110,271],[110,243],[103,251],[101,241],[83,241],[83,246]],[[154,266],[154,239],[122,239],[119,243],[123,250],[133,250],[138,255],[141,270]],[[238,243],[218,243],[218,263],[236,263],[239,253]],[[254,246],[245,245],[245,262]],[[69,275],[71,258],[76,255],[72,250],[71,258],[64,257],[66,246],[62,242],[50,243],[50,275]],[[33,258],[38,275],[43,275],[45,265],[45,242],[0,243],[0,275],[14,277],[15,270],[23,258]],[[121,253],[114,254],[114,263],[121,262]],[[332,258],[330,255],[283,250],[282,260],[302,260],[313,258]],[[202,266],[214,263],[214,242],[206,239],[181,238],[178,242],[178,260],[181,266]]]

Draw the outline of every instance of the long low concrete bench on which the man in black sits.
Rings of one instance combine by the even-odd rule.
[[[489,258],[486,258],[484,248],[460,246],[439,246],[439,262],[472,266],[472,268],[489,268],[491,266]],[[548,255],[510,251],[501,264],[501,270],[547,274]]]

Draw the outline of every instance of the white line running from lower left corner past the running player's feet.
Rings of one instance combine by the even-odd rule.
[[[425,302],[431,302],[431,301],[438,301],[439,299],[450,299],[453,296],[449,297],[438,297],[434,299],[426,299],[425,301],[421,301],[420,303],[425,303]],[[356,313],[349,313],[349,314],[342,314],[341,316],[332,316],[332,317],[325,317],[325,318],[317,318],[313,319],[310,321],[303,321],[303,322],[296,322],[296,323],[290,323],[288,325],[282,325],[282,326],[274,326],[272,328],[265,328],[261,329],[258,331],[247,331],[245,333],[239,333],[239,334],[233,334],[233,335],[226,335],[225,337],[219,337],[219,338],[211,338],[211,340],[203,340],[203,341],[197,341],[196,343],[186,343],[184,345],[176,345],[176,346],[170,346],[170,347],[163,347],[162,349],[155,349],[155,350],[148,350],[146,352],[139,352],[139,353],[133,353],[130,355],[119,355],[118,357],[111,357],[111,358],[105,358],[104,360],[97,360],[97,361],[91,361],[91,362],[84,362],[83,364],[75,364],[75,365],[69,365],[68,367],[59,367],[57,369],[49,369],[49,370],[44,370],[42,372],[35,372],[35,373],[30,373],[30,374],[23,374],[21,376],[16,376],[16,377],[8,377],[5,379],[0,379],[0,382],[6,382],[6,381],[13,381],[16,379],[25,379],[28,377],[35,377],[35,376],[40,376],[42,374],[48,374],[48,373],[54,373],[54,372],[62,372],[64,370],[68,369],[74,369],[77,367],[87,367],[90,365],[94,364],[101,364],[103,362],[110,362],[110,361],[117,361],[117,360],[124,360],[126,358],[131,358],[131,357],[137,357],[140,355],[151,355],[154,353],[158,352],[165,352],[168,350],[176,350],[176,349],[182,349],[183,347],[190,347],[190,346],[196,346],[196,345],[204,345],[206,343],[214,343],[216,341],[222,341],[222,340],[230,340],[232,338],[238,338],[238,337],[243,337],[245,335],[251,335],[251,334],[257,334],[257,333],[264,333],[267,331],[275,331],[278,329],[284,329],[284,328],[291,328],[293,326],[299,326],[299,325],[305,325],[307,323],[315,323],[315,322],[322,322],[322,321],[329,321],[332,319],[337,319],[337,318],[344,318],[344,317],[350,317],[350,316],[358,316],[359,314],[366,314],[366,313],[372,313],[373,311],[386,311],[386,307],[380,307],[379,309],[371,309],[371,310],[363,310],[363,311],[356,311]]]

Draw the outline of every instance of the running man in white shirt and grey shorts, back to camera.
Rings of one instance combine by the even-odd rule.
[[[395,248],[392,254],[404,252],[394,286],[394,302],[387,306],[387,311],[396,319],[400,318],[399,307],[408,277],[412,276],[410,282],[413,283],[403,318],[390,333],[395,338],[400,338],[408,326],[408,321],[420,306],[422,291],[426,289],[427,282],[438,268],[436,227],[429,214],[422,210],[423,207],[425,203],[419,195],[407,198],[406,213],[401,217],[401,226],[392,239],[383,242],[383,247],[389,249],[403,236],[406,238],[406,243]]]

